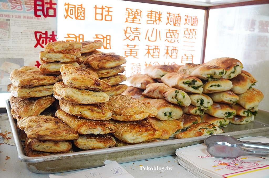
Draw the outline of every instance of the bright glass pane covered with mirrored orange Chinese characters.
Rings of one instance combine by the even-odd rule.
[[[58,1],[58,40],[102,40],[126,76],[148,65],[200,63],[204,10],[100,0]]]

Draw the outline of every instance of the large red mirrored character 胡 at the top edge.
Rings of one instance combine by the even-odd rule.
[[[47,8],[45,8],[45,4],[48,5]],[[49,2],[44,2],[44,0],[34,0],[34,16],[41,17],[41,15],[37,13],[42,12],[42,15],[44,17],[56,17],[56,8],[53,8],[53,5],[57,4],[52,2],[52,0],[50,0]]]

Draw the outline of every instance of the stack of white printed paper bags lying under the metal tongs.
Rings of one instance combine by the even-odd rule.
[[[264,137],[254,138],[255,142],[261,142],[260,139],[263,140]],[[242,138],[242,140],[245,139]],[[253,138],[246,138],[246,141],[250,140]],[[268,178],[269,160],[252,156],[242,156],[234,160],[214,158],[207,153],[206,147],[203,143],[177,149],[175,161],[191,172],[194,177],[199,178]]]

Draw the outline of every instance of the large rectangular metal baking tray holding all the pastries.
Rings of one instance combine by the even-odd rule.
[[[17,132],[16,122],[10,113],[11,107],[8,100],[6,100],[6,109],[19,159],[27,164],[30,171],[41,174],[95,168],[103,166],[105,160],[125,163],[174,155],[176,149],[203,143],[204,139],[208,137],[199,136],[185,139],[171,139],[154,143],[134,144],[99,150],[78,151],[42,157],[27,157],[24,155],[24,150]],[[244,125],[229,124],[227,128],[224,128],[224,135],[232,135],[235,138],[245,136],[269,137],[268,117],[268,111],[259,110],[253,122]]]

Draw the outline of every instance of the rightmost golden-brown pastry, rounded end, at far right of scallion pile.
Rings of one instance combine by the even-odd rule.
[[[250,88],[245,93],[239,94],[239,101],[237,102],[245,109],[257,108],[263,100],[263,92],[256,88]]]

